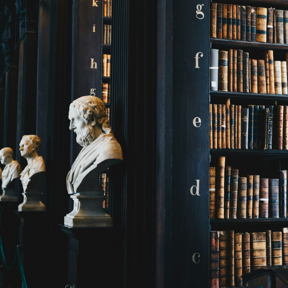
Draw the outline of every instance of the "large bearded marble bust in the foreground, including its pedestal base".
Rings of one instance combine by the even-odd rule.
[[[113,226],[113,218],[102,209],[107,198],[95,179],[108,167],[123,160],[100,98],[83,96],[69,108],[70,130],[83,147],[67,175],[67,190],[74,210],[65,217],[68,226]],[[86,212],[85,212],[86,211]],[[88,212],[89,211],[89,212]]]

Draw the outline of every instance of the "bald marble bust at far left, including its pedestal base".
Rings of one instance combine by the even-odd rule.
[[[18,201],[13,180],[20,177],[21,165],[13,160],[13,150],[9,147],[0,150],[0,161],[5,165],[3,172],[1,171],[3,194],[0,196],[0,201]]]

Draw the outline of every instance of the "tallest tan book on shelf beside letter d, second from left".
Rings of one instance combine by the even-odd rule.
[[[218,158],[217,173],[217,218],[224,219],[224,177],[225,177],[225,157]]]

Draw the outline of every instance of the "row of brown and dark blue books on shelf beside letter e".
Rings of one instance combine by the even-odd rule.
[[[288,150],[288,106],[242,108],[228,98],[226,104],[210,104],[209,118],[210,149]]]

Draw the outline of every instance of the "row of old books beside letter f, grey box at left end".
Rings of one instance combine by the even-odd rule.
[[[210,90],[287,95],[288,53],[285,61],[274,61],[273,50],[263,58],[250,59],[243,50],[210,49]]]

